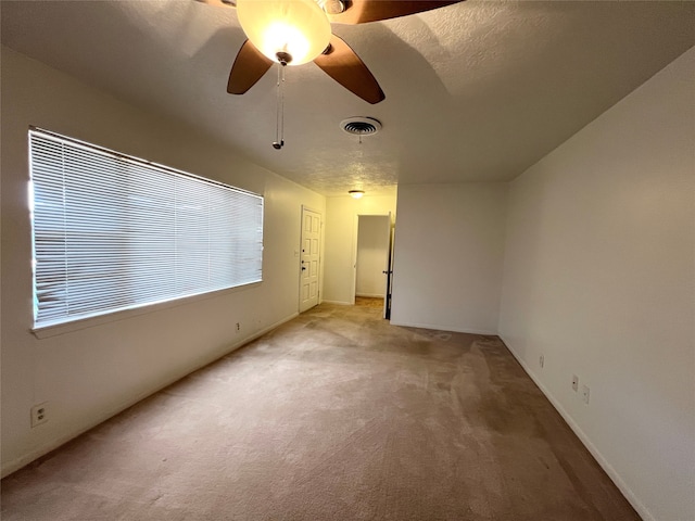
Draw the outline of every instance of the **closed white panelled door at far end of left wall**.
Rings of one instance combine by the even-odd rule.
[[[302,206],[300,313],[318,304],[321,214]]]

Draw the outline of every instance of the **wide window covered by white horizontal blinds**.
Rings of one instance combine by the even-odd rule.
[[[262,280],[263,198],[29,130],[36,329]]]

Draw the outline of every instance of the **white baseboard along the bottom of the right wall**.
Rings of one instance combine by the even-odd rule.
[[[620,476],[618,471],[616,471],[616,469],[612,468],[612,466],[604,457],[604,455],[601,453],[601,450],[598,450],[598,448],[596,448],[596,446],[591,442],[591,440],[584,433],[584,431],[582,431],[582,429],[579,427],[579,424],[577,424],[577,422],[571,417],[571,415],[569,412],[567,412],[567,410],[563,407],[563,405],[557,399],[555,399],[555,397],[548,391],[548,389],[545,385],[543,385],[543,383],[535,376],[535,373],[531,370],[531,368],[526,364],[526,361],[521,358],[521,356],[519,356],[518,353],[514,350],[511,344],[509,342],[507,342],[504,339],[504,336],[502,336],[501,334],[500,334],[500,339],[502,339],[502,342],[504,342],[504,344],[507,346],[507,348],[509,350],[509,353],[511,353],[511,355],[516,358],[516,360],[519,363],[519,365],[523,368],[523,370],[529,376],[529,378],[531,378],[531,380],[533,380],[533,383],[535,383],[539,386],[539,389],[545,395],[545,397],[548,399],[548,402],[560,414],[560,416],[567,422],[569,428],[574,432],[574,434],[577,434],[577,437],[579,437],[579,440],[582,442],[582,444],[586,447],[586,449],[591,453],[591,455],[594,457],[594,459],[598,462],[601,468],[604,469],[604,471],[612,480],[612,482],[620,490],[620,492],[626,497],[626,499],[628,499],[630,505],[632,505],[632,507],[637,511],[640,517],[644,521],[657,521],[657,519],[652,514],[652,512],[644,506],[644,504],[637,498],[637,496],[635,496],[635,494],[632,492],[632,490],[626,484],[626,482],[622,480],[622,478]]]

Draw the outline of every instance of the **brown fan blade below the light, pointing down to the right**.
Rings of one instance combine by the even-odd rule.
[[[330,38],[329,50],[315,58],[314,63],[340,85],[371,104],[386,98],[364,62],[336,35]]]

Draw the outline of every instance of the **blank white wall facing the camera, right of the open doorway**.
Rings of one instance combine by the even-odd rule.
[[[399,187],[392,323],[496,334],[506,190]]]

